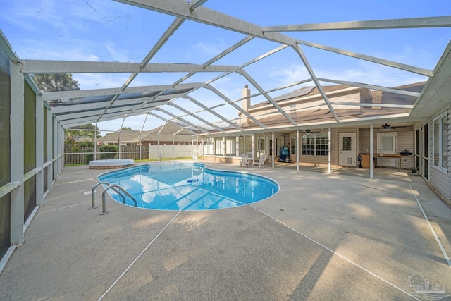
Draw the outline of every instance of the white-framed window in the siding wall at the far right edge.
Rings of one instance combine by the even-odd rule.
[[[447,115],[434,120],[434,166],[447,169]]]

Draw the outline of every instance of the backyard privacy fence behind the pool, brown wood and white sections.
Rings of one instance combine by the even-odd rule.
[[[202,149],[202,147],[199,147]],[[197,152],[194,151],[194,155]],[[100,147],[64,147],[64,164],[89,164],[94,159],[163,160],[192,158],[192,145],[121,145],[118,152],[100,152]]]

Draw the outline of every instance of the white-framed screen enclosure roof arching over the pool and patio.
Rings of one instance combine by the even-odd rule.
[[[30,2],[26,8],[23,4],[16,8],[30,16],[29,24],[13,22],[15,16],[1,16],[1,42],[12,41],[18,48],[17,56],[7,55],[21,61],[31,85],[32,75],[49,73],[72,73],[80,82],[80,90],[42,92],[42,100],[67,128],[144,115],[192,134],[232,133],[246,130],[237,112],[249,118],[251,129],[311,128],[318,118],[286,111],[278,101],[281,94],[300,96],[312,89],[323,97],[321,114],[328,114],[324,124],[381,123],[390,118],[413,123],[450,102],[451,16],[443,15],[450,15],[451,8],[446,1],[438,1],[435,16],[407,16],[404,11],[396,16],[388,8],[380,9],[379,1],[365,2],[365,7],[353,10],[355,16],[326,13],[327,7],[333,11],[336,1],[297,13],[293,13],[298,8],[295,4],[245,2]],[[256,16],[249,9],[268,4],[267,15]],[[19,4],[6,5],[13,10]],[[418,6],[417,13],[422,5],[412,4]],[[118,11],[121,13],[116,14]],[[359,18],[368,16],[367,11],[373,11],[371,20]],[[63,12],[70,18],[62,18]],[[275,24],[274,20],[280,20],[277,14],[296,22]],[[335,22],[342,16],[354,19]],[[323,22],[328,18],[330,22]],[[353,21],[356,19],[359,21]],[[32,26],[38,29],[30,30]],[[387,32],[395,35],[388,38]],[[425,40],[427,37],[433,39]],[[366,45],[362,47],[366,53],[347,48],[356,39]],[[421,57],[414,49],[389,58],[378,56],[388,47],[409,47],[403,43],[412,39],[416,47],[435,56]],[[58,43],[65,45],[67,54],[51,49]],[[92,49],[82,49],[80,43]],[[119,50],[124,54],[117,55]],[[118,57],[121,61],[116,61]],[[330,70],[322,61],[329,62]],[[349,67],[343,70],[338,67],[346,65]],[[296,68],[290,69],[292,66]],[[350,76],[350,70],[357,75]],[[370,70],[373,76],[365,76],[362,70]],[[288,76],[290,71],[295,74]],[[413,82],[424,85],[421,90],[399,87]],[[254,118],[242,109],[240,90],[244,85],[252,90],[253,105],[271,104],[278,116]],[[327,85],[362,87],[375,95],[385,93],[412,101],[394,102],[359,120],[360,106],[338,109],[326,95]]]

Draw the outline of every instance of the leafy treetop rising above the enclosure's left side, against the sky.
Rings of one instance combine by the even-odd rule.
[[[70,73],[36,74],[33,80],[42,92],[80,90],[80,84]]]

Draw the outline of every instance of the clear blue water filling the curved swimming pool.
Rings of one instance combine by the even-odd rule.
[[[242,206],[275,195],[275,181],[252,173],[218,171],[204,164],[149,164],[103,173],[101,182],[120,185],[137,207],[161,210],[206,210]],[[120,195],[108,190],[113,199]],[[125,196],[125,204],[134,206]]]

